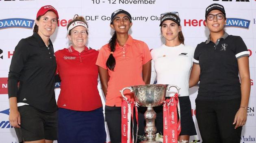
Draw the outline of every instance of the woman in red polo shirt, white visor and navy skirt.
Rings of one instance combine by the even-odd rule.
[[[61,78],[58,143],[104,143],[106,131],[98,92],[98,51],[87,48],[88,26],[84,17],[67,25],[72,46],[55,53]]]

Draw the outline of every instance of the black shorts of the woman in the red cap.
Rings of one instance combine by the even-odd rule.
[[[30,105],[20,106],[18,111],[20,112],[21,128],[15,128],[15,132],[19,142],[41,139],[57,140],[57,111],[47,113]]]

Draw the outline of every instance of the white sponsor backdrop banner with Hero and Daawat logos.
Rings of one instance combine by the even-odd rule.
[[[85,17],[88,22],[87,46],[100,49],[113,34],[109,24],[111,13],[117,9],[124,9],[131,14],[133,25],[129,34],[147,43],[150,49],[158,48],[165,41],[159,27],[161,13],[177,11],[185,44],[196,47],[208,38],[209,31],[204,24],[204,15],[205,8],[212,3],[225,7],[225,31],[241,36],[250,52],[251,95],[241,143],[256,143],[256,0],[0,0],[0,142],[18,143],[14,128],[9,123],[8,72],[14,48],[22,38],[33,34],[36,14],[41,6],[52,5],[59,13],[58,27],[51,36],[54,51],[57,51],[70,44],[67,39],[67,23],[75,14]],[[56,100],[60,93],[59,86],[57,83]],[[105,105],[100,80],[98,89]],[[190,89],[191,114],[197,129],[197,135],[190,137],[190,142],[198,140],[198,143],[202,143],[195,118],[197,90],[198,86]],[[106,143],[110,143],[108,135]]]

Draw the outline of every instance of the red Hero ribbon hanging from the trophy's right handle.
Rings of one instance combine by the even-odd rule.
[[[170,99],[166,99],[163,104],[163,143],[178,143],[181,126],[178,120],[179,111],[178,93]]]

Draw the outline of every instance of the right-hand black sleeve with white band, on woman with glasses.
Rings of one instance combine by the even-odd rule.
[[[239,59],[245,56],[249,57],[249,51],[247,49],[247,46],[245,45],[245,42],[243,42],[243,39],[240,36],[237,36],[237,39],[235,40],[235,42],[236,42],[235,44],[236,59]]]

